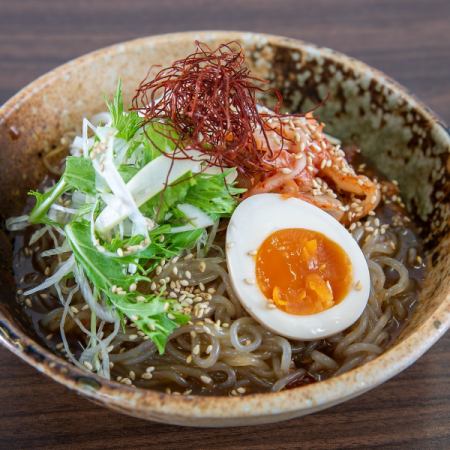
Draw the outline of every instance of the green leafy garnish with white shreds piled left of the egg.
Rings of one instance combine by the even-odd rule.
[[[183,146],[173,125],[145,123],[136,111],[126,112],[120,81],[107,106],[111,124],[97,127],[94,136],[94,145],[104,145],[94,151],[92,138],[83,135],[89,157],[67,157],[60,180],[44,193],[31,193],[36,204],[29,222],[57,227],[58,245],[70,248],[85,275],[67,276],[88,283],[114,320],[128,318],[163,353],[170,334],[189,317],[178,300],[151,287],[154,270],[163,259],[203,245],[208,227],[232,214],[244,190],[227,181],[235,169],[207,173],[212,170],[202,158],[168,159]],[[60,223],[48,214],[52,206]],[[98,318],[91,313],[89,350],[99,348]]]

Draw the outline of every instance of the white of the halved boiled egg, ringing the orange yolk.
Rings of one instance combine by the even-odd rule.
[[[289,314],[268,306],[256,282],[255,253],[269,235],[285,228],[322,233],[348,255],[353,280],[340,303],[311,315]],[[244,200],[230,219],[226,254],[231,283],[244,308],[255,320],[281,336],[315,340],[339,333],[358,320],[369,299],[369,269],[359,245],[336,219],[297,198],[259,194]]]

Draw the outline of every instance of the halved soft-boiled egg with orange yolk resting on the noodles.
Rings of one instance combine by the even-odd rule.
[[[320,208],[281,194],[254,195],[234,211],[226,239],[237,296],[273,332],[324,338],[364,311],[366,259],[350,233]]]

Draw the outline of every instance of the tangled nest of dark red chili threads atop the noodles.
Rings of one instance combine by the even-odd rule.
[[[178,138],[160,132],[177,144],[177,151],[163,153],[172,159],[192,159],[186,152],[195,148],[207,155],[210,165],[236,167],[247,176],[273,169],[274,152],[267,138],[269,118],[298,117],[304,114],[280,114],[282,97],[275,89],[264,88],[268,83],[252,76],[245,65],[245,55],[238,42],[221,44],[211,50],[195,42],[196,50],[186,58],[160,70],[153,79],[140,83],[133,98],[132,109],[151,121],[170,123]],[[257,109],[256,94],[272,93],[276,97],[273,113]],[[276,131],[282,141],[283,122]],[[254,132],[260,130],[267,151],[257,149]],[[183,146],[178,145],[185,143]]]

